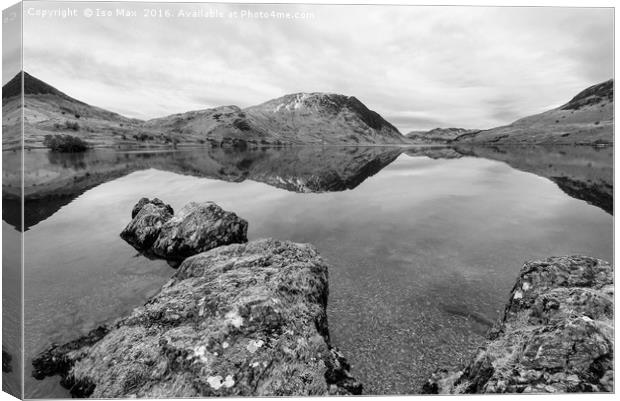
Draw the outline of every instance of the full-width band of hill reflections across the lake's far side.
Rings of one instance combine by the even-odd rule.
[[[205,148],[164,152],[95,150],[77,154],[31,151],[24,153],[24,226],[28,229],[47,219],[90,188],[148,168],[230,182],[247,179],[294,192],[333,192],[357,187],[403,152],[433,159],[474,156],[503,161],[513,168],[546,177],[569,196],[613,214],[613,148]],[[3,164],[2,219],[19,229],[16,166],[20,164],[20,153],[4,152]]]

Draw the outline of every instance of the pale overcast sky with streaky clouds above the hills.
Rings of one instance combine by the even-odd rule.
[[[403,133],[507,124],[613,77],[610,8],[158,4],[175,17],[144,18],[148,5],[128,4],[26,3],[24,69],[129,117],[335,92]],[[28,15],[64,7],[79,16]],[[224,18],[176,17],[201,7]],[[228,18],[247,9],[313,18]]]

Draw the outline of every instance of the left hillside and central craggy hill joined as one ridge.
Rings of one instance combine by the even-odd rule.
[[[20,146],[22,73],[2,88],[3,149]],[[374,145],[406,139],[355,97],[298,93],[241,109],[221,106],[149,121],[130,119],[79,101],[23,72],[25,146],[45,135],[70,134],[94,146]]]

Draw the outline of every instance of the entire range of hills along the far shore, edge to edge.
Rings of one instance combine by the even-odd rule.
[[[435,128],[405,136],[355,96],[299,92],[246,108],[218,106],[142,121],[84,103],[23,71],[2,88],[4,150],[21,146],[22,76],[26,147],[42,147],[54,133],[80,136],[95,147],[613,144],[613,79],[506,126]]]

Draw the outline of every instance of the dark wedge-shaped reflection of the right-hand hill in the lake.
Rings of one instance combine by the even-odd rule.
[[[546,177],[569,196],[613,214],[613,147],[506,146],[458,147],[457,150],[465,155],[500,160],[513,168]]]

